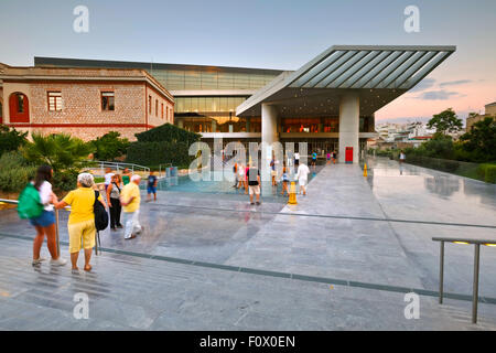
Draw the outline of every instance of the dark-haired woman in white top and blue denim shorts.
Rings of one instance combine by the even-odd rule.
[[[50,165],[41,165],[36,170],[36,176],[34,179],[34,189],[40,194],[40,201],[43,204],[43,213],[34,218],[30,218],[30,223],[36,229],[36,236],[33,242],[33,266],[39,266],[45,258],[40,257],[41,247],[46,235],[46,246],[48,248],[52,259],[51,265],[63,266],[67,264],[66,259],[60,257],[56,244],[56,231],[55,231],[55,212],[53,203],[57,203],[57,196],[52,191],[52,184],[50,183],[53,178],[53,169]]]

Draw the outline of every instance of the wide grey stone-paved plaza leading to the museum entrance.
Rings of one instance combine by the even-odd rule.
[[[0,329],[496,329],[496,248],[482,247],[479,320],[471,324],[473,246],[446,244],[440,306],[432,242],[496,240],[496,185],[388,159],[368,167],[367,178],[354,164],[320,167],[298,205],[160,191],[157,203],[142,203],[142,236],[101,234],[91,274],[33,268],[33,229],[2,212]],[[62,213],[67,258],[66,221]],[[403,313],[411,291],[420,295],[417,320]],[[88,320],[73,317],[77,292],[89,296]]]

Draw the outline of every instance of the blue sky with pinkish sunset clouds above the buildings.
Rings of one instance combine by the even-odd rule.
[[[76,6],[89,32],[73,31]],[[420,32],[403,29],[407,6]],[[496,101],[495,0],[0,1],[0,62],[34,56],[298,69],[334,44],[456,45],[377,121],[460,117]]]

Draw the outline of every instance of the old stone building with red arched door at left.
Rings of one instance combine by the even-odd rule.
[[[174,98],[143,69],[0,64],[0,124],[91,140],[174,124]]]

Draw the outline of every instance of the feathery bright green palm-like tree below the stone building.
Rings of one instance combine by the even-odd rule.
[[[33,132],[33,142],[23,147],[26,160],[39,164],[48,164],[55,172],[77,171],[86,164],[93,146],[67,133],[43,136]]]

